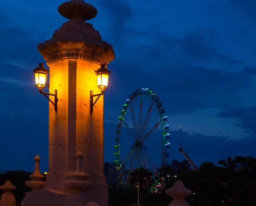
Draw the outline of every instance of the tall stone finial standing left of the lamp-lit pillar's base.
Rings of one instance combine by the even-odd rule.
[[[31,180],[26,181],[25,185],[32,189],[44,188],[44,181],[43,181],[44,175],[41,174],[40,166],[39,166],[39,161],[41,160],[41,158],[38,155],[36,155],[34,160],[35,160],[35,170],[32,175],[29,175],[29,178],[31,178]]]

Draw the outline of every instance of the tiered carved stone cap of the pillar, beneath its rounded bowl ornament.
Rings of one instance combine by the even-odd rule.
[[[38,45],[38,51],[47,64],[69,58],[108,64],[115,58],[112,45],[102,41],[99,31],[81,19],[64,23],[50,40]]]

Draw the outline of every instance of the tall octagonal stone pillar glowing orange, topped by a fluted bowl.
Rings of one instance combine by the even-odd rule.
[[[108,185],[103,173],[104,98],[99,98],[90,114],[90,90],[100,93],[94,70],[114,59],[113,48],[84,21],[96,16],[92,5],[84,0],[71,0],[61,4],[58,11],[70,20],[50,40],[38,45],[49,66],[49,93],[58,90],[58,111],[49,103],[49,171],[44,189],[27,194],[23,206],[29,205],[29,198],[38,206],[42,201],[52,205],[49,198],[40,198],[39,194],[49,195],[52,200],[57,198],[57,203],[63,205],[84,206],[92,201],[108,206]],[[50,99],[54,101],[53,96]],[[73,180],[79,151],[84,154],[82,169],[93,186],[77,193],[68,182]],[[73,203],[75,199],[79,203]]]

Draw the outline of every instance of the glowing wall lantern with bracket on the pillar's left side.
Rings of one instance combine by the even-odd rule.
[[[44,68],[44,63],[38,63],[38,65],[39,65],[39,67],[37,67],[33,70],[33,72],[35,74],[35,87],[38,87],[39,92],[41,94],[43,94],[54,105],[54,110],[57,111],[57,109],[58,109],[58,107],[57,107],[57,102],[58,102],[57,90],[54,90],[54,94],[43,92],[45,85],[47,85],[49,87],[49,85],[46,83],[49,70]],[[54,102],[52,102],[52,100],[49,99],[49,97],[47,95],[54,96],[55,97]]]

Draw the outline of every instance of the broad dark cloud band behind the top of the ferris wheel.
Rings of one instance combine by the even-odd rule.
[[[154,62],[152,62],[154,64]],[[243,102],[239,91],[253,85],[250,75],[200,66],[151,68],[113,62],[105,96],[108,119],[115,118],[132,91],[146,87],[157,93],[167,115],[192,113],[206,108],[236,107]],[[232,106],[231,106],[232,105]],[[113,116],[113,117],[111,117]]]

